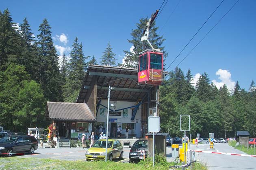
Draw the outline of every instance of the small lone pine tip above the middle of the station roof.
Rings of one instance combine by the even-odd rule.
[[[108,46],[103,52],[100,64],[104,66],[115,66],[115,53],[113,53],[112,50],[110,42],[108,42]]]

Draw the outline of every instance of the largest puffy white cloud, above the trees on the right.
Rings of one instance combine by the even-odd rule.
[[[221,82],[217,82],[216,80],[212,81],[218,89],[223,87],[224,84],[228,87],[228,89],[234,89],[235,82],[231,80],[231,74],[228,70],[222,70],[220,68],[215,74],[219,76],[218,79],[221,80]]]

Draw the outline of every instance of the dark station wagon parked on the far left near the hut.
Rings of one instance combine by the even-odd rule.
[[[0,152],[6,157],[13,153],[34,153],[38,148],[38,142],[34,136],[7,136],[0,139]]]

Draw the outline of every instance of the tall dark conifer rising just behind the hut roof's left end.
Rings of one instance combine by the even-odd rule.
[[[50,101],[60,100],[60,72],[58,66],[59,57],[52,42],[51,27],[47,19],[39,26],[38,59],[39,59],[39,82],[45,97]]]

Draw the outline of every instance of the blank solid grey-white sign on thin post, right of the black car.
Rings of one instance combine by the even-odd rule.
[[[160,117],[148,117],[148,132],[153,132],[153,167],[155,166],[155,132],[160,131]]]

